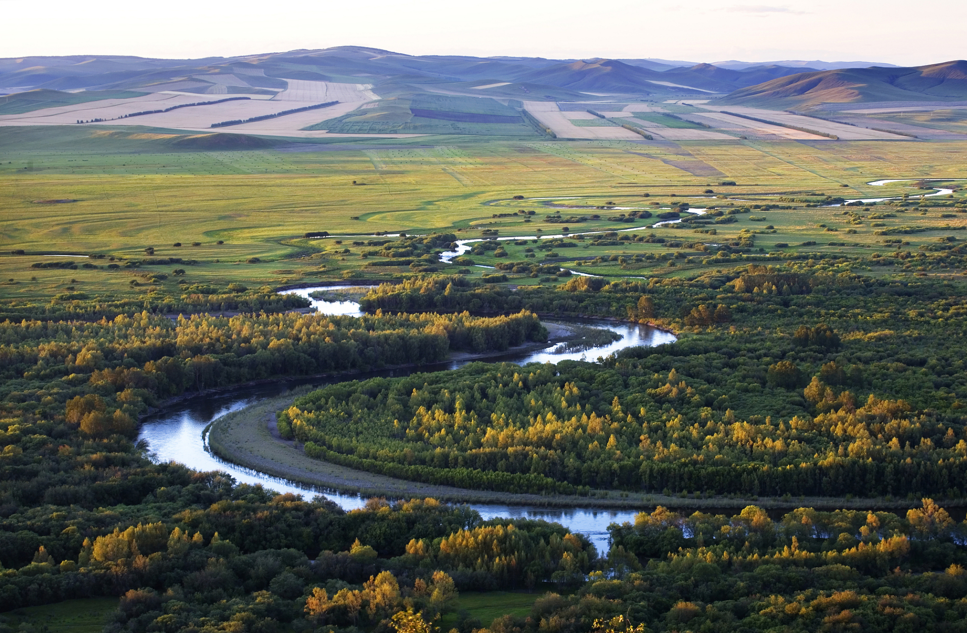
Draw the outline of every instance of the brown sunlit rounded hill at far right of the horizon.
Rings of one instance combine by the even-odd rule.
[[[967,61],[912,68],[853,68],[801,73],[741,88],[720,103],[774,109],[824,103],[923,102],[967,99]]]

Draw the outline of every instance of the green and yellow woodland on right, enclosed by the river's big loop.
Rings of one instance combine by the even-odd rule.
[[[815,268],[513,293],[427,280],[447,284],[444,302],[568,302],[683,336],[603,368],[480,365],[332,385],[284,412],[283,429],[323,459],[483,489],[963,497],[967,375],[948,335],[965,325],[964,299],[949,283]]]

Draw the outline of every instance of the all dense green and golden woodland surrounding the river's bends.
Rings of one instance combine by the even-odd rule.
[[[416,633],[448,613],[458,633],[963,630],[967,533],[942,509],[967,494],[962,285],[721,259],[694,279],[515,290],[414,276],[374,289],[366,307],[382,312],[362,318],[274,314],[294,306],[271,293],[236,317],[163,316],[181,297],[32,307],[0,323],[0,602],[123,596],[111,633]],[[398,314],[426,311],[443,316]],[[432,499],[346,513],[154,464],[133,442],[170,396],[542,341],[535,313],[680,336],[601,363],[335,384],[280,412],[280,429],[337,463],[490,490],[916,507],[659,508],[596,552],[560,526]],[[527,618],[453,613],[460,591],[491,588],[542,597]]]

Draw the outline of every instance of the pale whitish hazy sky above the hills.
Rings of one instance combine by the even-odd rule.
[[[194,58],[365,45],[410,54],[822,59],[967,57],[963,0],[0,0],[0,57]]]

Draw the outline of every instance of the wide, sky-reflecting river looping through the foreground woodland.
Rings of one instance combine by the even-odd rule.
[[[293,292],[305,296],[312,302],[316,310],[329,315],[358,316],[359,304],[351,301],[320,301],[309,297],[315,290],[346,289],[345,286],[317,286],[300,288]],[[599,319],[560,319],[594,325],[606,328],[621,335],[621,339],[604,347],[595,347],[588,351],[565,351],[556,346],[527,352],[508,353],[498,357],[489,357],[488,362],[513,362],[526,364],[533,362],[557,363],[566,359],[596,360],[599,356],[606,356],[625,347],[654,347],[675,340],[673,334],[663,332],[647,325],[622,323]],[[420,371],[440,371],[456,369],[465,365],[469,360],[450,361],[437,365],[427,365]],[[372,372],[354,376],[352,378],[366,378],[371,376],[405,376],[412,373],[411,368]],[[346,378],[340,378],[346,379]],[[262,484],[266,488],[280,493],[295,493],[304,497],[329,498],[337,502],[344,509],[350,510],[361,507],[366,498],[356,495],[344,495],[329,490],[318,490],[296,482],[281,479],[271,475],[239,467],[225,462],[212,454],[209,450],[205,430],[209,424],[222,415],[238,410],[257,402],[273,398],[285,393],[297,385],[322,385],[333,382],[333,378],[303,378],[285,383],[270,383],[249,386],[241,389],[229,390],[221,394],[206,394],[202,397],[190,398],[177,405],[164,408],[160,413],[148,417],[141,425],[138,439],[148,442],[158,462],[178,462],[196,470],[221,470],[229,473],[239,482]],[[471,503],[470,507],[480,512],[484,519],[497,517],[526,517],[555,521],[570,528],[572,531],[586,534],[598,547],[599,552],[607,552],[607,526],[611,523],[633,521],[636,510],[613,510],[594,508],[544,508],[527,505],[505,505],[499,503]]]

